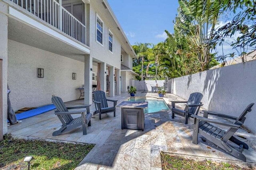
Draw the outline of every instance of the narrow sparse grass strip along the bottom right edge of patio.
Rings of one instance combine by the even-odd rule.
[[[163,170],[252,170],[250,164],[242,163],[243,167],[230,162],[196,159],[161,152]]]

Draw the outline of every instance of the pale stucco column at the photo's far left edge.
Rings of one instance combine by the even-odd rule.
[[[8,17],[0,12],[0,141],[7,133]]]

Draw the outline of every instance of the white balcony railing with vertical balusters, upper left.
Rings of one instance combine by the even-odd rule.
[[[11,0],[38,18],[86,44],[86,27],[56,0]]]

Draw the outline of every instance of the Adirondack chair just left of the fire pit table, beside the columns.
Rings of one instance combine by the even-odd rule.
[[[95,104],[95,111],[93,115],[100,113],[99,118],[101,119],[101,114],[114,112],[114,117],[116,117],[116,102],[118,100],[106,99],[106,94],[103,91],[96,91],[93,93],[94,99],[92,100]],[[108,107],[108,102],[113,102],[113,107]]]

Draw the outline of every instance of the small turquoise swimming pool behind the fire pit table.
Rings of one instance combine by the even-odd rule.
[[[144,113],[153,113],[161,110],[169,110],[164,100],[150,97],[130,97],[127,101],[131,102],[148,102],[148,108],[144,109]]]

